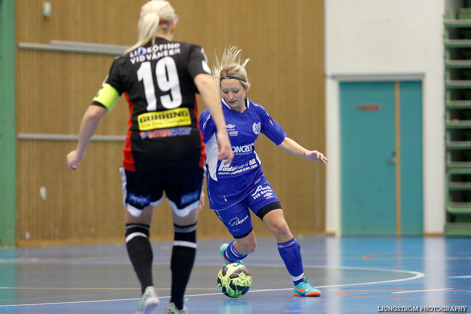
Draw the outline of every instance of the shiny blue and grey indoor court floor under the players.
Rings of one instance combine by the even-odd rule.
[[[226,239],[226,241],[229,239]],[[259,238],[244,260],[252,287],[241,298],[219,292],[222,241],[198,242],[186,291],[189,314],[416,313],[467,306],[471,313],[471,239],[297,237],[304,272],[322,296],[292,295],[274,238]],[[154,283],[169,302],[171,242],[153,243]],[[0,249],[0,313],[134,314],[140,289],[122,244]],[[396,308],[388,308],[396,306]],[[444,308],[441,308],[445,306]],[[422,308],[421,308],[422,307]],[[394,311],[393,311],[394,310]],[[402,312],[406,312],[403,308]]]

